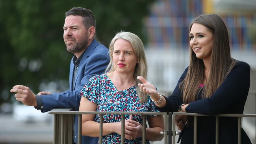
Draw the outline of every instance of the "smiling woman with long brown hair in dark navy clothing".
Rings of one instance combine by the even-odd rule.
[[[232,59],[228,31],[215,15],[200,15],[189,26],[189,66],[171,96],[165,98],[143,77],[140,89],[149,94],[162,112],[206,115],[242,114],[250,87],[250,66]],[[177,116],[182,144],[193,143],[193,118]],[[215,144],[215,117],[198,117],[198,144]],[[237,118],[219,118],[219,143],[237,143]],[[242,144],[251,144],[242,129]]]

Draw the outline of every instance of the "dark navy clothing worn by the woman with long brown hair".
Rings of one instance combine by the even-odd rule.
[[[166,99],[165,107],[157,107],[161,112],[176,112],[183,103],[179,84],[186,77],[187,69],[180,77],[171,96]],[[242,114],[250,87],[250,66],[237,61],[223,83],[211,95],[202,99],[202,90],[196,101],[186,107],[187,113],[206,115]],[[193,144],[193,117],[189,116],[188,126],[182,131],[182,144]],[[198,116],[198,144],[215,144],[215,117]],[[242,129],[242,144],[251,144],[249,137]],[[219,118],[219,144],[237,144],[237,118]]]

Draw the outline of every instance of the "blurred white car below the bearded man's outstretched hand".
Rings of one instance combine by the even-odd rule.
[[[17,121],[17,124],[50,124],[52,122],[52,114],[41,113],[40,110],[32,106],[17,102],[13,104],[13,119]]]

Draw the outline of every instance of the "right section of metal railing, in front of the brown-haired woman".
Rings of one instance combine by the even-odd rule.
[[[173,119],[177,115],[194,116],[194,144],[197,144],[197,116],[210,116],[210,115],[197,114],[197,113],[173,113]],[[215,115],[214,117],[216,117],[215,143],[219,144],[219,117],[237,117],[238,144],[241,144],[241,118],[242,117],[256,118],[256,114],[219,114],[219,115]],[[173,131],[175,131],[175,121],[173,121],[172,125],[173,125]],[[173,144],[175,144],[175,136],[173,137]]]

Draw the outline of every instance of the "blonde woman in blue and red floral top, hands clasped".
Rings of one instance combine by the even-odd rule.
[[[108,72],[94,76],[81,91],[79,111],[156,112],[150,96],[141,92],[137,76],[147,77],[144,46],[139,37],[130,32],[115,35],[109,46]],[[99,115],[82,116],[82,135],[99,137]],[[147,116],[147,143],[161,140],[163,116]],[[103,143],[121,143],[121,115],[103,116]],[[126,115],[125,143],[142,143],[142,116]]]

